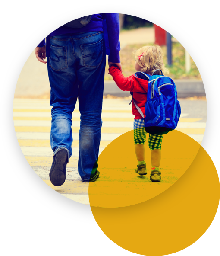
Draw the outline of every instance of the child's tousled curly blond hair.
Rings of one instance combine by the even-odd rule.
[[[140,56],[143,52],[145,52],[145,54],[143,54],[142,59],[139,60],[138,56]],[[133,54],[135,54],[135,61],[137,61],[138,65],[142,67],[142,72],[153,73],[154,70],[160,69],[162,70],[163,74],[169,73],[169,70],[164,67],[164,54],[159,45],[144,46],[137,51],[134,51]],[[160,70],[156,71],[154,75],[160,75]]]

